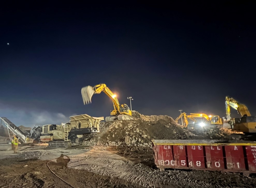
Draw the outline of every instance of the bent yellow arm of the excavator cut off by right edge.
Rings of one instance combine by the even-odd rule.
[[[244,104],[239,104],[233,98],[226,97],[225,104],[226,104],[226,119],[227,120],[231,119],[230,107],[236,109],[241,117],[243,117],[244,115],[251,116],[248,108]]]

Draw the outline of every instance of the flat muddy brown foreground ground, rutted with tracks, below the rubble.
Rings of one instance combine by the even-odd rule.
[[[1,144],[0,187],[255,187],[254,175],[171,169],[160,172],[152,152],[126,149],[26,144],[13,154],[10,144]]]

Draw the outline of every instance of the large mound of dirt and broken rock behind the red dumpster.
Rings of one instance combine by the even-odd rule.
[[[218,139],[230,140],[233,131],[225,128],[184,129],[166,115],[142,115],[133,111],[134,120],[101,122],[100,133],[85,145],[151,147],[152,139]]]

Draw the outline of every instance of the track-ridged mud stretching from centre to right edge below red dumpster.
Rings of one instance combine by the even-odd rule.
[[[135,187],[253,187],[252,185],[256,182],[255,178],[220,171],[165,170],[160,172],[142,163],[122,161],[115,154],[108,152],[91,154],[86,160],[78,161],[82,157],[84,156],[73,158],[68,168],[108,176],[120,184],[125,180]],[[105,184],[101,182],[99,187],[105,187]]]

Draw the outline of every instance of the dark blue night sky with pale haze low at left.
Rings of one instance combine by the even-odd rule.
[[[24,2],[0,6],[0,116],[16,125],[110,116],[104,93],[83,104],[99,83],[144,115],[224,116],[225,96],[256,115],[252,2]]]

